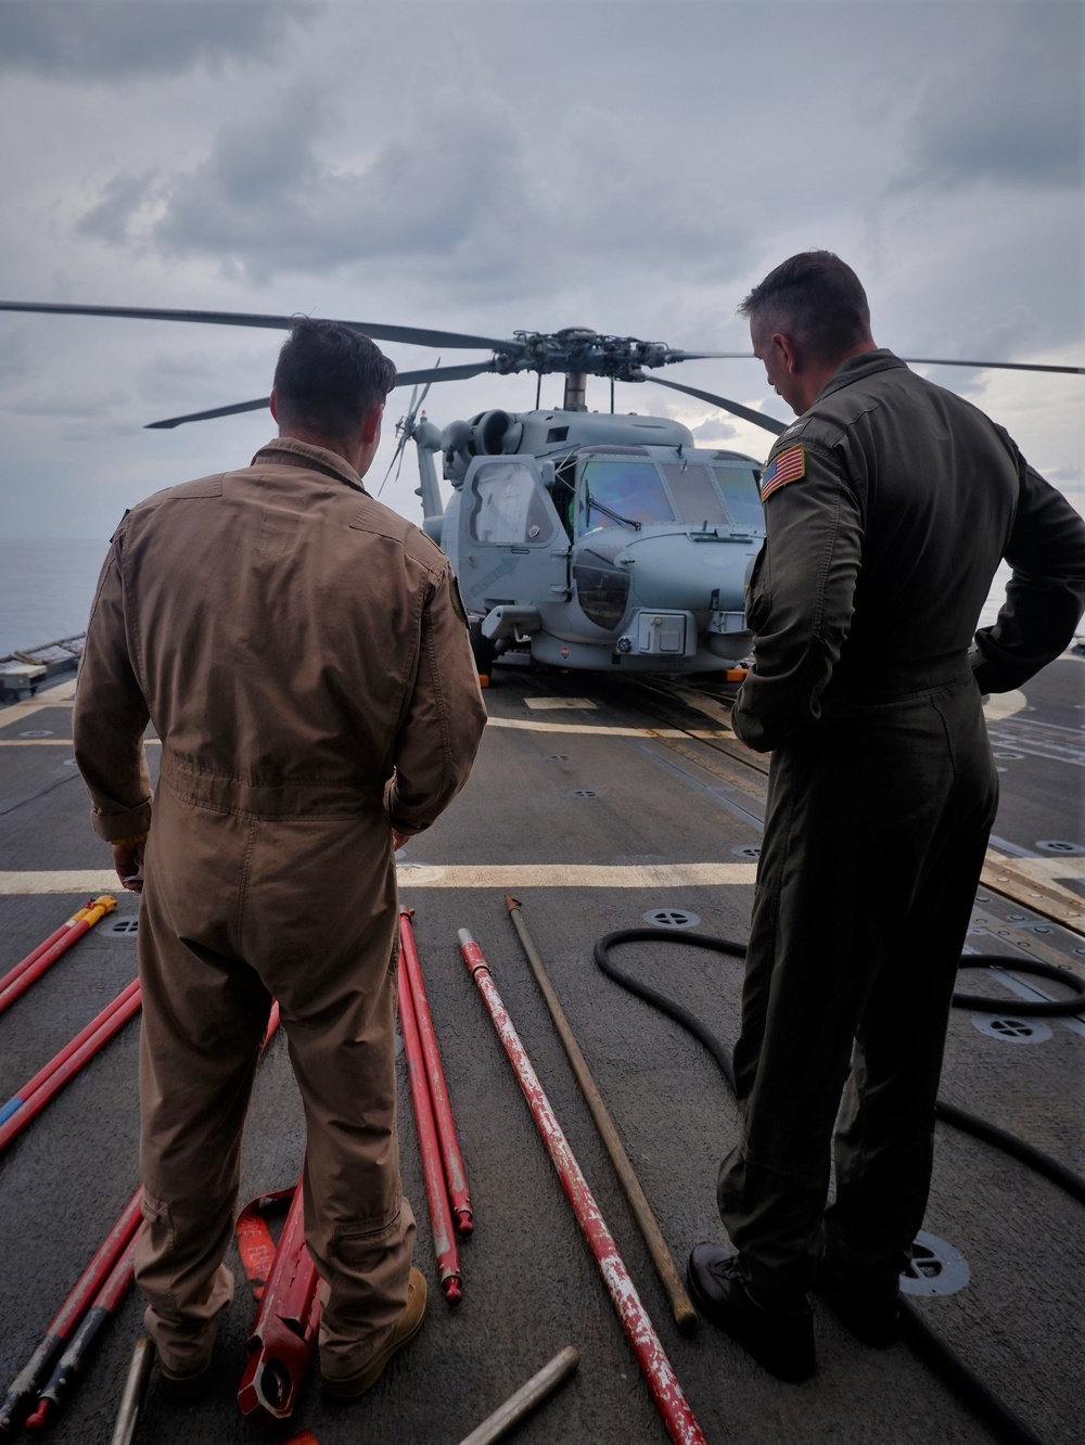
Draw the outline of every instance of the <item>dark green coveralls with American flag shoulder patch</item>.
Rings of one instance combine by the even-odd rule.
[[[777,439],[763,497],[734,727],[773,759],[719,1212],[773,1298],[809,1286],[822,1243],[839,1277],[889,1296],[923,1222],[998,798],[981,692],[1069,643],[1085,523],[1001,428],[881,350]],[[1003,558],[1007,603],[969,657]]]

